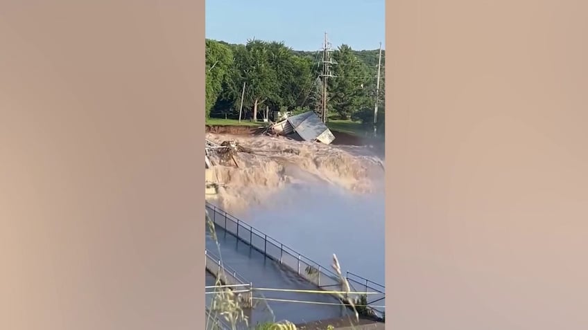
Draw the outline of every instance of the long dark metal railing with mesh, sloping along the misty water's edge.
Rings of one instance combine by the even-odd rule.
[[[243,241],[243,243],[248,244],[260,253],[263,253],[269,259],[273,259],[275,262],[290,268],[291,271],[319,288],[329,291],[340,288],[341,281],[339,276],[330,271],[329,268],[313,262],[313,260],[304,257],[304,255],[297,253],[295,250],[209,202],[206,202],[206,208],[215,226],[223,228],[225,232],[233,235],[239,241]],[[370,295],[367,295],[368,309],[381,317],[383,315],[383,306],[386,297],[385,286],[349,272],[346,273],[345,277],[347,282],[349,282],[352,293],[356,293],[356,296],[361,295],[361,293],[370,293]]]

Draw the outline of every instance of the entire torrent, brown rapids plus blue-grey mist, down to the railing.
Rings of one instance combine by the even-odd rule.
[[[323,266],[335,253],[343,271],[384,282],[384,169],[367,147],[338,147],[267,136],[236,140],[239,167],[216,165],[225,187],[215,199],[234,214]]]

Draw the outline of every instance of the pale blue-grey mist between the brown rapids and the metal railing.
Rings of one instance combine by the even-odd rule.
[[[241,219],[322,266],[330,266],[335,253],[343,271],[384,283],[383,194],[293,185]]]

